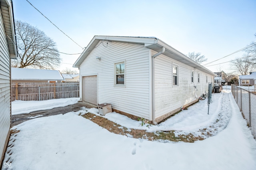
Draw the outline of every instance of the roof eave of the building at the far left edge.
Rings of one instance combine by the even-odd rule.
[[[13,6],[10,0],[0,0],[4,29],[10,51],[10,58],[17,58],[16,33],[14,26]]]

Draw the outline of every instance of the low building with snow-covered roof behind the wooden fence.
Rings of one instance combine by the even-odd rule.
[[[58,70],[12,67],[12,83],[60,83],[65,81]]]

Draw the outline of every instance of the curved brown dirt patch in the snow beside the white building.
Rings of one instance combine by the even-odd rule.
[[[90,121],[98,124],[100,127],[103,127],[112,133],[126,135],[133,138],[168,140],[172,142],[194,142],[197,140],[204,140],[203,137],[194,136],[193,134],[175,136],[174,131],[146,132],[146,130],[127,129],[126,127],[122,127],[112,121],[109,121],[108,119],[96,116],[92,113],[86,113],[85,115],[82,115],[82,117],[89,119]]]

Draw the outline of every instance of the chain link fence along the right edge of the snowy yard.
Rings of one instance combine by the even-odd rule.
[[[256,94],[235,85],[231,86],[232,95],[242,111],[247,125],[252,130],[254,138],[256,138]]]

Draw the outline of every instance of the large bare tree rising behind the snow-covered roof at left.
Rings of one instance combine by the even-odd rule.
[[[12,67],[55,69],[60,65],[56,43],[44,32],[26,22],[15,21],[18,58]]]

